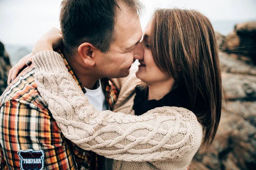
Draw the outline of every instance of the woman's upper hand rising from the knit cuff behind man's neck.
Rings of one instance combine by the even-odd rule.
[[[37,54],[41,51],[53,51],[54,48],[58,48],[62,44],[61,30],[58,28],[52,28],[47,31],[34,45],[32,52]]]

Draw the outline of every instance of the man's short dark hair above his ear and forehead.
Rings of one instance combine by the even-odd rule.
[[[115,15],[120,3],[136,13],[142,9],[138,0],[63,0],[60,23],[65,48],[72,52],[83,42],[90,42],[107,52],[115,39]]]

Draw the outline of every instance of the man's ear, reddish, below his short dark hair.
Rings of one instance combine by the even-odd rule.
[[[88,66],[95,65],[94,60],[94,53],[97,50],[96,47],[94,47],[89,42],[84,42],[81,45],[79,45],[78,52],[80,54],[81,59],[84,61],[84,63]]]

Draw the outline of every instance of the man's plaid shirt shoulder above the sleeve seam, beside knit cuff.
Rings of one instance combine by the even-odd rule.
[[[44,108],[46,103],[39,95],[34,74],[35,68],[33,65],[25,68],[0,96],[0,106],[3,106],[7,101],[18,100],[28,105],[36,102],[36,105]]]

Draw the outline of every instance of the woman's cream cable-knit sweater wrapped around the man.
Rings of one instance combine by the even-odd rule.
[[[33,63],[38,91],[64,136],[84,150],[120,160],[114,169],[185,169],[198,150],[202,126],[191,111],[162,107],[134,116],[134,88],[140,80],[133,71],[113,79],[120,91],[114,111],[122,112],[115,113],[89,104],[58,53],[40,52]]]

